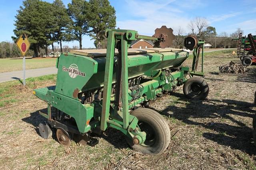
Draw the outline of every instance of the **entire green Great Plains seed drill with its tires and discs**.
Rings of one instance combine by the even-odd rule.
[[[47,119],[39,124],[40,135],[49,138],[51,127],[56,128],[60,144],[70,146],[72,139],[86,144],[91,132],[101,134],[111,127],[120,130],[134,150],[161,154],[170,142],[170,128],[162,115],[147,108],[150,102],[181,85],[186,97],[204,99],[209,88],[204,79],[194,77],[204,77],[202,40],[188,36],[184,41],[194,50],[192,69],[182,66],[189,55],[182,49],[129,49],[139,38],[170,46],[172,29],[159,32],[161,28],[151,37],[134,30],[107,30],[107,49],[60,55],[56,86],[33,91],[48,106],[48,113],[39,112]],[[200,50],[202,69],[197,71]]]

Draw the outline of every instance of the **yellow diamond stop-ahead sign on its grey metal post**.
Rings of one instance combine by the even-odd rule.
[[[23,55],[23,85],[26,85],[26,58],[25,55],[30,47],[30,42],[28,41],[28,37],[25,33],[22,33],[18,38],[16,45],[20,49],[21,54]]]

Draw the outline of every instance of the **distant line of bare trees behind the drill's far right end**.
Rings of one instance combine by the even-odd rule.
[[[194,35],[200,40],[205,40],[205,43],[210,43],[216,48],[236,48],[237,41],[232,41],[233,38],[237,38],[240,32],[243,30],[238,28],[235,32],[228,35],[226,32],[216,33],[216,28],[209,26],[208,21],[202,17],[196,17],[192,19],[188,24],[190,32],[186,34],[184,29],[178,27],[174,29],[175,40],[173,42],[174,47],[182,48],[184,38],[188,35]]]

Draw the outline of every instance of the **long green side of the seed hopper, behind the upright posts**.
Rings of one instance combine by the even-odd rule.
[[[178,67],[186,60],[187,57],[188,52],[186,51],[128,55],[128,78],[130,79],[132,77],[138,77],[145,74],[151,76],[152,69],[158,70],[165,68],[166,66]],[[86,86],[82,88],[82,91],[103,87],[104,85],[106,57],[97,57],[94,58],[94,60],[98,62],[98,71],[92,75],[90,80],[86,83]],[[117,59],[114,57],[114,65],[116,65],[116,63]],[[115,80],[116,70],[114,69],[112,83],[115,83]]]

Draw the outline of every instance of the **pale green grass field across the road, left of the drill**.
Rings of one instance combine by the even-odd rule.
[[[30,58],[26,59],[26,69],[54,67],[56,58]],[[18,71],[23,69],[23,59],[0,59],[0,73]]]

